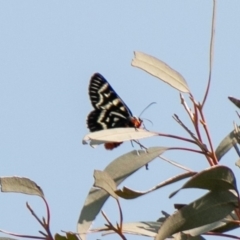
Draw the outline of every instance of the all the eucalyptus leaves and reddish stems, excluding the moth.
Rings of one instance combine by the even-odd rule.
[[[138,143],[143,150],[135,150],[126,153],[112,161],[103,171],[94,171],[95,183],[90,189],[84,206],[81,210],[76,234],[66,233],[66,236],[61,236],[59,234],[56,234],[54,237],[52,236],[50,231],[49,206],[44,198],[43,191],[36,183],[29,179],[20,177],[1,178],[0,184],[2,192],[18,192],[37,195],[43,199],[47,212],[46,218],[43,217],[40,219],[27,203],[28,210],[44,230],[39,231],[41,236],[20,235],[0,230],[1,232],[17,237],[47,240],[85,239],[86,234],[89,232],[103,232],[104,234],[116,233],[121,239],[126,239],[124,235],[125,233],[148,236],[157,240],[163,240],[166,238],[204,239],[202,236],[203,234],[227,236],[229,238],[240,239],[237,236],[232,236],[225,233],[226,231],[238,228],[240,220],[240,204],[236,179],[232,170],[226,166],[219,165],[219,160],[233,147],[240,156],[237,147],[237,143],[240,142],[239,128],[235,127],[235,129],[223,139],[218,148],[214,150],[203,112],[211,82],[212,49],[214,43],[215,26],[215,1],[213,2],[212,37],[210,41],[209,61],[210,71],[206,92],[201,102],[195,100],[181,74],[169,67],[166,63],[141,52],[135,52],[135,57],[132,61],[133,66],[148,72],[154,77],[157,77],[170,84],[178,91],[189,95],[192,102],[191,109],[193,110],[188,107],[188,104],[185,102],[182,94],[180,94],[180,98],[181,103],[192,122],[195,132],[193,133],[190,131],[189,128],[185,126],[184,123],[178,118],[178,116],[174,115],[174,119],[180,124],[181,127],[184,128],[184,130],[190,136],[189,138],[134,128],[110,129],[90,133],[85,136],[83,142],[86,143],[89,140],[92,146],[105,142],[123,142],[132,140]],[[240,107],[239,100],[232,97],[229,99],[238,107]],[[202,141],[203,137],[202,132],[200,131],[201,128],[207,137],[207,143]],[[141,138],[152,136],[178,139],[188,144],[193,144],[194,146],[198,147],[198,149],[183,147],[146,148],[138,142],[138,140]],[[164,152],[171,150],[184,150],[201,154],[206,158],[210,167],[204,171],[193,172],[186,167],[177,165],[185,170],[183,174],[167,179],[149,190],[140,192],[127,187],[118,189],[119,184],[121,184],[126,178],[134,174],[140,168],[147,166],[147,164],[153,161],[155,158],[161,157]],[[208,190],[208,193],[194,200],[188,205],[175,205],[177,211],[174,214],[169,215],[163,212],[164,217],[156,221],[124,223],[119,201],[120,198],[133,200],[150,192],[159,190],[163,186],[170,185],[186,178],[190,179],[186,181],[180,189],[170,194],[170,198],[176,195],[180,190],[186,188],[205,189]],[[115,199],[118,206],[120,220],[116,225],[111,223],[106,214],[101,211],[102,206],[109,197]],[[106,220],[105,226],[98,229],[89,230],[92,222],[100,212]]]

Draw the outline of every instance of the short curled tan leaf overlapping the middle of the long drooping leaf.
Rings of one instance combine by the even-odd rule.
[[[118,199],[118,196],[115,193],[115,191],[117,190],[116,183],[113,181],[113,179],[109,176],[107,172],[95,170],[94,179],[94,187],[101,188],[113,198]]]

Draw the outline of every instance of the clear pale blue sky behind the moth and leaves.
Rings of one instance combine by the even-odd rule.
[[[238,0],[218,1],[212,84],[204,107],[215,148],[238,121],[236,107],[227,97],[240,98],[239,11]],[[114,151],[82,145],[92,110],[90,77],[95,72],[105,76],[136,116],[157,102],[142,116],[153,122],[146,122],[149,130],[188,137],[172,118],[178,114],[193,129],[179,93],[132,67],[131,60],[134,51],[161,59],[184,76],[201,101],[208,79],[211,14],[212,1],[207,0],[0,2],[0,176],[24,176],[41,186],[50,205],[53,234],[76,231],[94,169],[102,170],[120,155],[138,149],[128,142]],[[188,95],[185,98],[190,105]],[[160,137],[142,143],[191,147]],[[164,156],[195,171],[208,167],[197,154],[172,151]],[[236,160],[231,151],[221,164],[237,176]],[[180,173],[156,159],[148,171],[142,168],[122,186],[146,190]],[[169,199],[183,183],[134,201],[121,200],[124,221],[155,221],[162,210],[172,214],[174,203],[189,203],[203,194],[184,190]],[[41,230],[25,207],[28,202],[39,217],[45,216],[40,198],[2,193],[0,202],[0,229],[35,235]],[[103,209],[112,222],[118,221],[113,200]],[[94,227],[103,224],[99,215]],[[97,238],[103,237],[89,236]]]

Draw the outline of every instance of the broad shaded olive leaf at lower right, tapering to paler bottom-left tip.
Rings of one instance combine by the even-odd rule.
[[[222,220],[237,204],[238,198],[230,191],[209,192],[170,216],[160,228],[156,240]]]

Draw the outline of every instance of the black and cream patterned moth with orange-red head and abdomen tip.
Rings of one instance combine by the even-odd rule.
[[[94,107],[87,117],[87,126],[91,132],[122,127],[140,128],[142,120],[133,116],[100,73],[95,73],[90,79],[89,96]],[[120,144],[122,142],[108,142],[104,146],[112,150]]]

